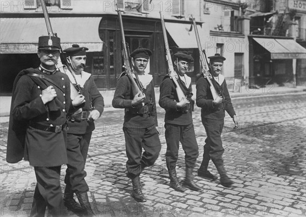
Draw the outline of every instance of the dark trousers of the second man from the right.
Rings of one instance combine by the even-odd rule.
[[[177,158],[179,158],[180,142],[185,151],[186,167],[194,168],[199,151],[195,139],[193,123],[189,125],[166,123],[165,128],[165,138],[167,142],[166,164],[168,170],[175,169]]]

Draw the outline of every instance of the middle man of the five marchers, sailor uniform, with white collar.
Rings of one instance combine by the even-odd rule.
[[[113,107],[124,108],[123,132],[125,137],[127,176],[133,184],[132,196],[138,202],[146,199],[141,191],[139,175],[145,167],[152,166],[161,150],[154,82],[152,75],[144,72],[149,56],[149,49],[137,48],[131,53],[139,81],[144,87],[144,96],[133,94],[131,80],[123,72],[118,80],[114,94]],[[144,152],[142,153],[142,148]]]

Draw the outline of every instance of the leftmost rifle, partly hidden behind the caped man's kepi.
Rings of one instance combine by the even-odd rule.
[[[57,34],[55,34],[52,30],[52,26],[51,26],[51,22],[50,22],[50,18],[49,18],[49,14],[48,14],[48,11],[47,11],[47,7],[46,7],[46,4],[44,2],[44,0],[40,0],[40,3],[41,3],[41,7],[42,7],[42,12],[43,12],[43,15],[44,15],[44,19],[45,19],[45,22],[46,22],[46,26],[47,26],[47,31],[48,31],[48,35],[49,36],[55,36],[57,37]],[[60,54],[60,59],[58,60],[58,63],[56,64],[56,67],[60,70],[60,72],[62,73],[65,73],[68,71],[69,73],[71,73],[68,69],[67,69],[67,61],[66,61],[66,58],[64,57],[64,52],[63,52],[63,49],[62,49],[62,46],[61,46],[61,54]],[[71,81],[70,81],[71,83]],[[74,85],[71,83],[70,84],[70,90],[71,90],[71,93],[70,93],[70,97],[71,99],[74,99],[76,96],[78,96],[79,94],[81,94],[80,90],[77,90],[77,88],[74,87]]]

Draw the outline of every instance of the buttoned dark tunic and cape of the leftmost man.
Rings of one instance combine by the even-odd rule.
[[[29,72],[49,80],[29,76]],[[56,90],[57,97],[44,105],[40,94],[50,85]],[[65,74],[57,71],[53,75],[47,75],[37,68],[19,72],[13,86],[7,161],[14,163],[24,157],[32,166],[54,167],[66,164],[66,129],[52,132],[30,125],[64,125],[66,112],[72,108],[70,106],[70,84]]]

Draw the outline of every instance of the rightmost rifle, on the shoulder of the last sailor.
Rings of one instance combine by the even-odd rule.
[[[209,69],[207,67],[209,64],[208,64],[208,61],[207,61],[207,58],[206,58],[205,50],[202,50],[202,46],[201,46],[201,42],[200,42],[200,38],[199,38],[199,33],[197,31],[195,18],[193,18],[192,14],[191,14],[191,19],[192,19],[192,22],[193,22],[193,28],[194,28],[194,32],[195,32],[196,42],[197,42],[199,53],[200,53],[201,70],[202,70],[202,73],[203,73],[204,77],[208,80],[208,82],[210,84],[210,90],[211,90],[213,98],[215,100],[218,96],[220,96],[220,94],[217,92],[217,90],[215,89],[215,87],[212,83],[211,79],[213,79],[213,77],[212,77],[212,75],[209,72]]]

